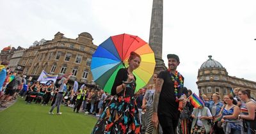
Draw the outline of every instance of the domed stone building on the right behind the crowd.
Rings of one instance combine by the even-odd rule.
[[[211,98],[213,93],[220,93],[223,95],[230,94],[231,89],[240,87],[241,89],[250,89],[251,96],[256,96],[256,82],[246,80],[244,78],[237,78],[228,75],[227,70],[218,62],[208,56],[209,59],[205,61],[198,70],[197,86],[200,93]]]

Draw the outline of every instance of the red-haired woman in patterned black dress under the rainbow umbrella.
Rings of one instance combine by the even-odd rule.
[[[118,70],[111,89],[113,100],[100,115],[92,133],[140,133],[140,119],[134,99],[136,77],[141,57],[131,52],[127,68]]]

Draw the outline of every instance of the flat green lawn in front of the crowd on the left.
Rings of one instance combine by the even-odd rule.
[[[51,105],[26,104],[19,98],[11,107],[0,112],[0,133],[91,133],[97,119],[84,113],[74,113],[70,107],[61,105],[61,115],[48,114]]]

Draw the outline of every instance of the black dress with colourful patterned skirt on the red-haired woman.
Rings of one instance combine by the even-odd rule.
[[[116,75],[112,90],[122,84],[122,80],[126,79],[127,71],[120,69]],[[122,92],[115,94],[113,100],[110,101],[104,112],[100,115],[92,134],[141,133],[139,112],[134,98],[135,87],[136,83],[132,82]]]

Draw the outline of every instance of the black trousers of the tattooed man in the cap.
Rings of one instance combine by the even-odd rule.
[[[159,123],[163,129],[163,134],[175,134],[175,130],[179,123],[179,116],[176,117],[168,117],[164,115],[158,115]]]

